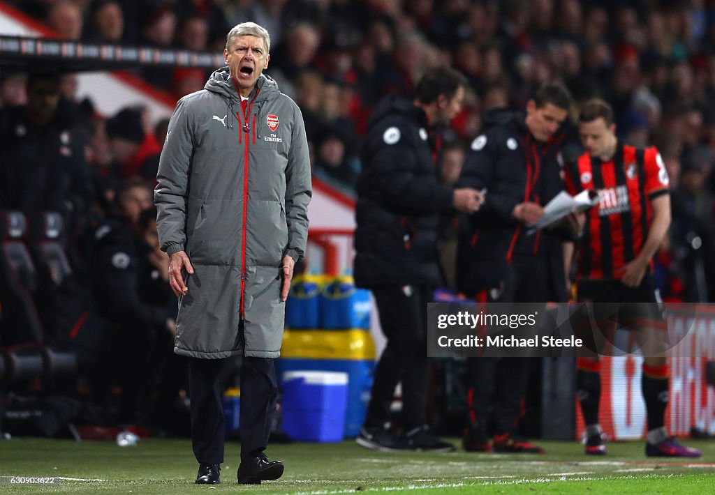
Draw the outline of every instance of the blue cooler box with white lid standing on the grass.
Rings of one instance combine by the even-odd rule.
[[[347,373],[287,371],[283,374],[283,431],[298,441],[342,441]]]

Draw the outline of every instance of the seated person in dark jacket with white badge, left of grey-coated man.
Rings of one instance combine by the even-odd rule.
[[[112,324],[112,366],[105,370],[118,373],[105,378],[107,386],[112,379],[122,384],[119,421],[146,426],[162,376],[157,365],[171,354],[175,310],[167,301],[157,304],[145,299],[147,287],[153,284],[151,267],[162,266],[139,226],[142,211],[152,206],[151,190],[142,181],[129,181],[117,191],[116,206],[117,213],[94,234],[90,282],[100,313]],[[164,256],[160,273],[167,267]]]

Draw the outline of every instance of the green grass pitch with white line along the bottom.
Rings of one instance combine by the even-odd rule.
[[[453,439],[455,443],[457,439]],[[285,474],[261,486],[236,482],[240,444],[227,442],[222,485],[194,485],[197,463],[188,439],[144,439],[134,447],[112,441],[14,438],[0,441],[0,493],[62,494],[349,494],[715,492],[715,442],[689,441],[701,459],[653,459],[644,443],[611,442],[607,456],[583,454],[576,442],[538,442],[546,455],[380,453],[339,444],[272,444],[270,459]],[[7,476],[59,476],[54,485],[11,485]]]

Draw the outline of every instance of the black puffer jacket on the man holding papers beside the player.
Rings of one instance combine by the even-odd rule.
[[[490,111],[460,174],[460,186],[486,190],[480,211],[460,231],[458,286],[468,294],[499,286],[513,256],[543,256],[541,261],[546,258],[552,266],[554,280],[564,280],[561,242],[566,232],[543,230],[529,235],[511,216],[517,204],[533,201],[543,206],[564,189],[564,134],[556,134],[548,143],[538,142],[525,117],[506,109]],[[558,293],[550,299],[563,299],[565,287]]]

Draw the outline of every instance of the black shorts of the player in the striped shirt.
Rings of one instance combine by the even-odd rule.
[[[662,326],[663,305],[651,274],[637,287],[614,279],[582,279],[576,286],[578,302],[592,302],[596,321],[611,321],[623,328],[644,324]]]

